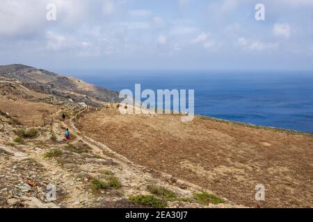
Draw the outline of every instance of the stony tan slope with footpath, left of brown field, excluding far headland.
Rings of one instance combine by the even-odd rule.
[[[166,200],[168,207],[243,207],[230,201],[198,203],[193,194],[202,192],[201,187],[134,164],[86,137],[69,119],[61,122],[61,112],[71,116],[75,104],[38,102],[49,98],[15,81],[0,80],[0,207],[145,207],[129,197],[152,195],[147,189],[151,185],[175,194]],[[38,135],[19,135],[30,127]],[[70,128],[73,146],[63,140],[65,128]],[[105,183],[115,178],[121,187],[95,190],[93,178]],[[46,198],[49,184],[56,185],[52,202]]]

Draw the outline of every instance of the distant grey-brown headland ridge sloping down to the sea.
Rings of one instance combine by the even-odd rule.
[[[100,106],[95,102],[118,102],[118,92],[25,65],[0,66],[0,78],[16,79],[35,92],[61,96],[79,103]],[[1,79],[0,79],[1,80]]]

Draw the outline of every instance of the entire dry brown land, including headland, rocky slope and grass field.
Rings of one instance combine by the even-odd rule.
[[[116,96],[0,66],[0,207],[313,207],[312,134],[123,115]],[[259,184],[265,201],[255,200]],[[56,200],[47,200],[47,185],[56,185]]]

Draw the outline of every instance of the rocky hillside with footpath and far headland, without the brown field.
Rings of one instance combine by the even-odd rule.
[[[23,65],[1,73],[0,207],[243,207],[170,173],[156,174],[81,133],[75,123],[82,112],[118,110],[97,100],[97,87]],[[64,97],[62,87],[77,97]],[[95,107],[80,103],[82,92],[95,94],[84,100]]]

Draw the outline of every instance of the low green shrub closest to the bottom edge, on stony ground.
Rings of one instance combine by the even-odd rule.
[[[137,196],[131,196],[129,200],[132,203],[135,203],[137,205],[144,205],[146,207],[154,207],[154,208],[163,208],[167,207],[167,203],[165,200],[161,200],[159,198],[156,198],[153,195],[137,195]]]

